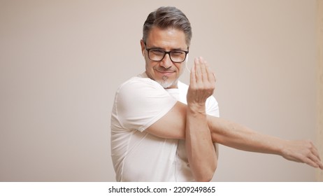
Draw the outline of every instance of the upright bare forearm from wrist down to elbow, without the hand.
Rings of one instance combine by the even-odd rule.
[[[187,107],[186,151],[196,181],[210,181],[217,167],[217,155],[208,128],[205,106]]]

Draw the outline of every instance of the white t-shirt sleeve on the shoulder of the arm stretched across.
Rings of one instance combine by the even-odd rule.
[[[117,90],[115,106],[120,125],[143,132],[170,111],[176,103],[161,85],[147,78],[136,78]]]

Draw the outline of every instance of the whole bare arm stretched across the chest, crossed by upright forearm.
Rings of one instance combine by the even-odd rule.
[[[164,117],[148,127],[147,131],[157,137],[187,139],[188,112],[188,107],[178,102]],[[284,140],[254,132],[248,127],[222,118],[208,116],[207,119],[213,142],[243,151],[281,155],[287,160],[323,169],[317,148],[311,141]]]

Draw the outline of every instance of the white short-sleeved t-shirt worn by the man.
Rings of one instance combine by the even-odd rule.
[[[145,73],[118,88],[111,114],[111,157],[117,181],[194,181],[185,141],[155,137],[145,130],[186,102],[188,86],[164,89]],[[219,116],[217,101],[209,97],[206,113]]]

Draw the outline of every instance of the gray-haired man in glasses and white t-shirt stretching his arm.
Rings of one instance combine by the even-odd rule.
[[[210,181],[216,143],[272,153],[323,169],[310,141],[285,141],[217,118],[215,75],[194,60],[189,86],[178,78],[192,38],[177,8],[161,7],[143,25],[145,72],[120,85],[111,115],[111,156],[117,181]]]

